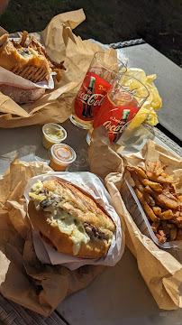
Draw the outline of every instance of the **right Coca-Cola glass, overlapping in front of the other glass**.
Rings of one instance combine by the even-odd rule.
[[[87,144],[90,144],[92,132],[99,125],[105,125],[110,142],[117,143],[149,95],[148,88],[140,80],[121,73],[107,92],[88,131]]]

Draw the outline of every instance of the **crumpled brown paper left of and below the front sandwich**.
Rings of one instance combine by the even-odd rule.
[[[51,171],[46,163],[15,158],[0,180],[0,292],[44,316],[105,267],[85,265],[69,271],[60,265],[42,265],[35,255],[23,191],[28,178]]]

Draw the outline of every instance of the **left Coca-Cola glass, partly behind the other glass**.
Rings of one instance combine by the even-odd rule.
[[[89,129],[95,119],[107,91],[117,78],[118,71],[124,73],[126,67],[123,61],[105,51],[97,51],[86,77],[72,103],[70,121],[78,127]]]

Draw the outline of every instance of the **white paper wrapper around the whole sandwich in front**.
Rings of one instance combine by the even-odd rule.
[[[41,240],[41,237],[36,236],[36,231],[34,230],[32,231],[33,245],[40,261],[52,265],[63,265],[69,270],[76,270],[78,267],[83,265],[116,265],[123,255],[124,236],[122,234],[120,218],[114,210],[113,202],[108,191],[105,190],[103,181],[91,172],[52,172],[51,175],[43,174],[35,176],[27,181],[27,186],[24,190],[24,197],[27,201],[27,206],[30,201],[29,192],[31,191],[32,185],[37,181],[50,181],[52,179],[68,181],[69,183],[76,185],[80,190],[91,195],[92,198],[94,198],[113,219],[116,231],[114,232],[114,237],[107,255],[102,258],[90,259],[78,258],[77,256],[69,256],[57,252],[56,249],[50,247]]]

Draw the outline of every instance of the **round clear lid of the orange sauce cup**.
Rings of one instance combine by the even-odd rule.
[[[53,144],[50,148],[50,158],[57,163],[69,164],[75,162],[77,154],[68,144]]]

